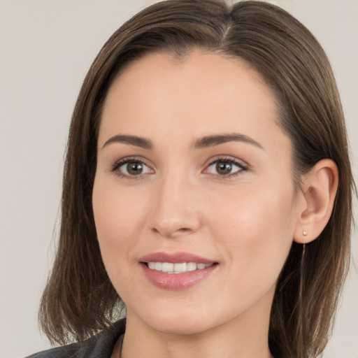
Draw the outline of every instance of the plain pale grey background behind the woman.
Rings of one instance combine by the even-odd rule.
[[[71,112],[103,43],[153,2],[0,0],[0,357],[48,348],[37,310],[54,252]],[[327,51],[357,180],[358,1],[271,2],[298,17]],[[357,234],[352,248],[355,266],[324,358],[358,357]]]

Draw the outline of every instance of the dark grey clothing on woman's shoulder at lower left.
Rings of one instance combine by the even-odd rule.
[[[27,358],[109,358],[124,330],[125,320],[120,320],[86,341],[44,350]]]

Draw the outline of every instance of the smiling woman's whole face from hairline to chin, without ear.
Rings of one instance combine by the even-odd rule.
[[[277,122],[273,94],[239,59],[147,55],[115,80],[93,209],[127,320],[181,334],[268,322],[298,217]]]

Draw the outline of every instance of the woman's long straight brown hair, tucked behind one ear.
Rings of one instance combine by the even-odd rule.
[[[280,103],[280,126],[293,144],[293,178],[320,159],[339,170],[334,210],[312,243],[293,243],[273,299],[268,341],[275,357],[317,357],[329,338],[350,260],[352,191],[341,101],[315,37],[269,3],[168,0],[118,29],[94,60],[73,112],[64,168],[62,222],[40,322],[50,341],[82,341],[118,317],[120,297],[103,266],[92,213],[96,142],[108,88],[127,64],[150,52],[180,57],[194,48],[243,59]]]

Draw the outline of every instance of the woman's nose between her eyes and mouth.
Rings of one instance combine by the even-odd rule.
[[[199,229],[198,191],[187,176],[166,175],[156,183],[152,198],[150,228],[155,234],[177,238]]]

